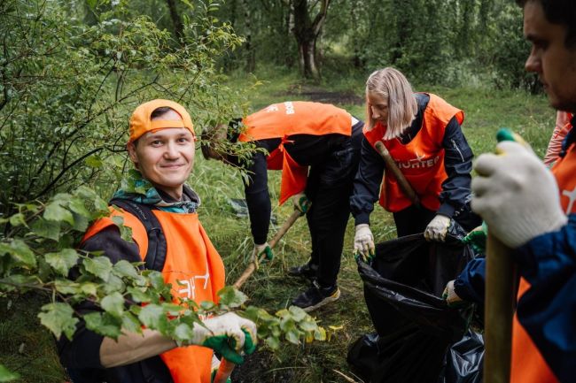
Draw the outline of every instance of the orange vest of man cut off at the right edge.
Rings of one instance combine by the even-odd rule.
[[[560,203],[566,214],[576,213],[576,144],[572,143],[566,156],[559,157],[552,167],[560,190]],[[520,279],[518,299],[530,289],[530,283]],[[511,383],[557,383],[558,379],[534,345],[530,335],[514,315],[512,326]]]

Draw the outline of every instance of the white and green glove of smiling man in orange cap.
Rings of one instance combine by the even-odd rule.
[[[244,362],[242,352],[252,354],[256,349],[256,325],[252,320],[227,312],[203,323],[194,324],[191,344],[214,349],[235,364]]]

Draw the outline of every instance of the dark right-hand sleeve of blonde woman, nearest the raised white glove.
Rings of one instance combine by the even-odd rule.
[[[452,218],[471,198],[471,171],[474,154],[466,142],[462,128],[453,117],[446,126],[444,139],[444,168],[448,178],[442,182],[439,214]]]

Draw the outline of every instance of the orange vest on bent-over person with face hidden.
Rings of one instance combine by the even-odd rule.
[[[246,130],[241,142],[280,138],[280,145],[267,158],[270,170],[282,170],[279,203],[306,188],[308,167],[298,164],[284,149],[293,134],[352,134],[352,116],[329,103],[287,101],[273,103],[242,120]]]

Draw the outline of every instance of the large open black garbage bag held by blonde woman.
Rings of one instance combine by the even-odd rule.
[[[376,246],[371,264],[358,259],[364,297],[377,333],[363,335],[347,361],[371,383],[435,383],[448,348],[463,338],[472,307],[449,308],[440,297],[473,257],[463,230],[451,226],[444,243],[423,234]]]

